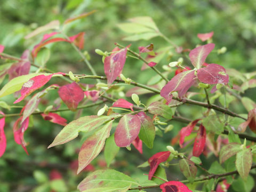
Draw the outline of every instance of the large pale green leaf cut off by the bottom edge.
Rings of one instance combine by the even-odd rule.
[[[83,192],[116,192],[132,186],[140,186],[135,180],[124,173],[107,169],[98,170],[88,175],[78,185],[78,189]]]

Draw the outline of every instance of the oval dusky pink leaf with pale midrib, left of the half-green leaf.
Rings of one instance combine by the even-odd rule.
[[[140,119],[136,115],[124,115],[115,132],[115,142],[118,147],[130,146],[140,132]]]

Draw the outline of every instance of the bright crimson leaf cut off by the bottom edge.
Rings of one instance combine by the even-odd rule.
[[[185,184],[179,181],[168,181],[160,186],[163,192],[192,192]]]

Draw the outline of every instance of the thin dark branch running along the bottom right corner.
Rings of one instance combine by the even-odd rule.
[[[252,169],[255,169],[256,168],[256,165],[253,165],[251,167],[251,170]],[[222,177],[226,177],[226,176],[229,176],[229,175],[233,175],[233,174],[238,174],[237,171],[231,171],[231,172],[227,172],[227,173],[223,173],[223,174],[211,174],[211,175],[208,175],[206,177],[203,177],[203,178],[196,178],[194,180],[194,182],[199,182],[199,181],[205,181],[205,180],[210,180],[210,179],[218,179],[218,178],[222,178]],[[180,181],[182,183],[189,183],[188,180],[182,180]],[[135,187],[135,188],[130,188],[128,190],[141,190],[141,189],[150,189],[150,188],[159,188],[160,185],[156,185],[156,186],[147,186],[147,187]]]

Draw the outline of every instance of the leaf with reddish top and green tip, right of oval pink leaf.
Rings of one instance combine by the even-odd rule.
[[[152,149],[156,135],[154,122],[143,111],[138,113],[137,116],[139,117],[141,123],[139,138],[146,144],[148,148]]]

